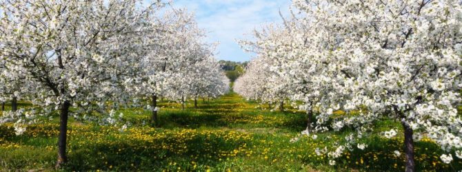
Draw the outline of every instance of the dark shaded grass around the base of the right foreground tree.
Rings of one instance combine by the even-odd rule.
[[[405,153],[403,138],[381,138],[372,136],[364,138],[363,142],[368,144],[364,150],[353,145],[352,151],[348,149],[335,159],[336,171],[404,171]],[[394,151],[399,151],[396,155]],[[441,162],[439,156],[443,154],[441,147],[430,141],[414,142],[416,171],[457,171],[462,169],[462,160],[454,158],[451,164]],[[454,154],[454,153],[452,153]],[[328,158],[319,160],[319,157],[305,155],[301,161],[319,166],[328,164]],[[345,168],[346,167],[346,168]]]

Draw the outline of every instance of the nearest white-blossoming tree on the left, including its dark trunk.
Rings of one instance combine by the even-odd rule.
[[[70,113],[79,117],[95,107],[107,109],[126,98],[121,82],[132,76],[132,64],[145,52],[141,43],[150,14],[161,7],[141,9],[141,1],[2,1],[0,3],[0,54],[9,78],[23,74],[34,83],[31,102],[40,109],[2,116],[1,122],[24,124],[34,115],[59,110],[57,166],[66,163],[66,131]],[[76,113],[70,111],[75,107]],[[115,107],[110,107],[115,108]],[[90,114],[90,113],[89,113]],[[114,113],[105,120],[114,123]],[[21,129],[23,130],[23,129]]]

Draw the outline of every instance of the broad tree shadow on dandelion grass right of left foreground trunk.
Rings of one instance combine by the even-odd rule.
[[[221,158],[241,156],[232,154],[250,140],[221,131],[214,133],[178,131],[153,139],[105,140],[72,147],[70,171],[205,171],[205,166],[215,166]],[[234,136],[234,137],[230,137]],[[121,141],[123,140],[123,141]],[[230,155],[232,154],[232,155]],[[178,169],[181,166],[182,169]]]

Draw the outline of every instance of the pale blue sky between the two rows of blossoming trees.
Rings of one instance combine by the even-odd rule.
[[[255,28],[270,22],[281,23],[279,9],[287,16],[290,0],[176,0],[176,8],[188,8],[200,28],[209,32],[209,43],[219,42],[219,60],[249,61],[253,56],[241,50],[236,39],[251,39]]]

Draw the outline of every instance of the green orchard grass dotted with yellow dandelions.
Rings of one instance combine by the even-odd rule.
[[[192,102],[181,110],[178,103],[159,103],[158,127],[146,123],[150,111],[122,109],[124,120],[132,122],[127,131],[70,120],[69,162],[64,171],[403,171],[402,134],[385,139],[380,131],[400,127],[393,120],[374,125],[375,133],[365,136],[368,148],[343,153],[337,165],[330,166],[317,147],[330,147],[350,129],[321,133],[319,138],[297,137],[306,126],[307,116],[295,109],[269,111],[237,94],[228,94],[194,109]],[[15,136],[11,124],[0,126],[0,171],[54,171],[58,124],[31,125]],[[10,128],[8,128],[10,127]],[[462,169],[461,160],[452,164],[439,160],[441,149],[429,140],[416,142],[418,171]]]

